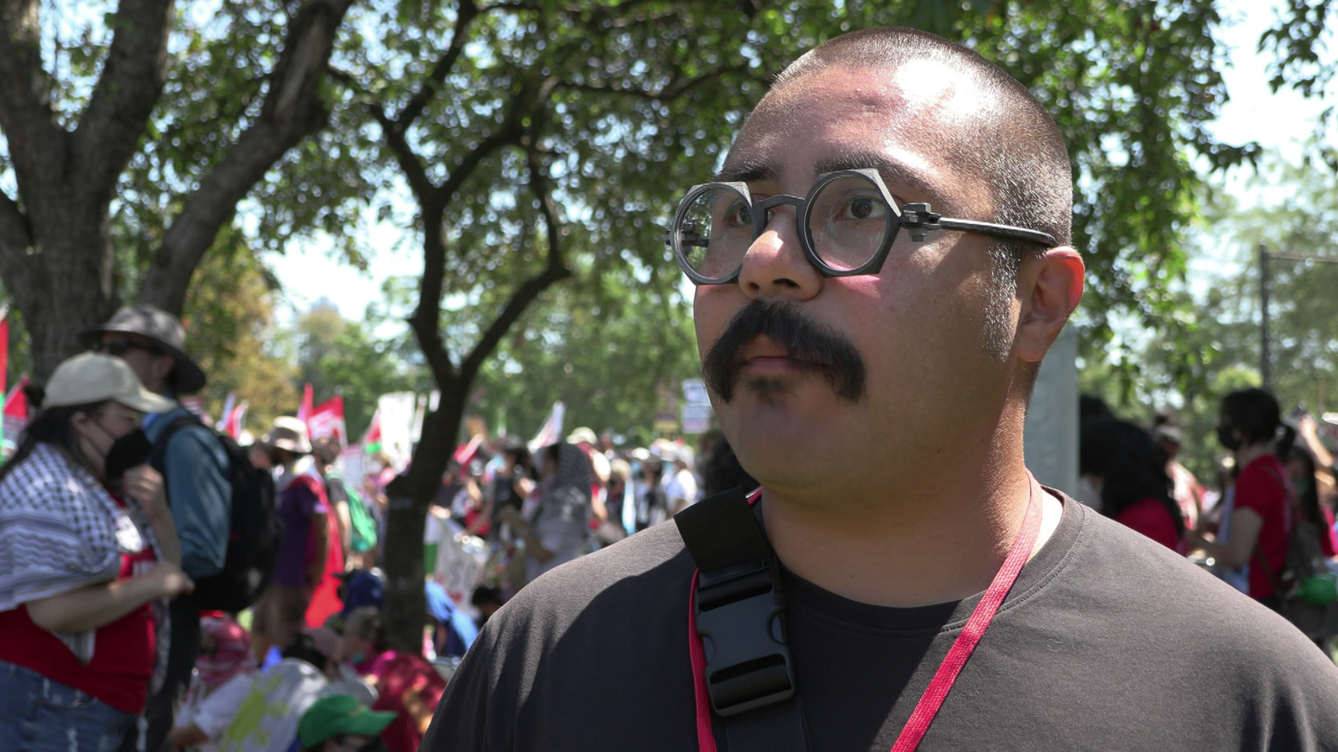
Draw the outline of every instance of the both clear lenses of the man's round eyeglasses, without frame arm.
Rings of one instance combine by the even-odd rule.
[[[863,266],[883,245],[890,210],[879,187],[867,178],[847,175],[826,183],[807,206],[814,253],[838,272]],[[704,189],[682,210],[678,253],[704,277],[729,277],[756,240],[752,211],[729,186]]]

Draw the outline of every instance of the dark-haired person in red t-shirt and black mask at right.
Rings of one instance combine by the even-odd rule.
[[[1282,420],[1278,400],[1263,389],[1240,389],[1222,399],[1218,440],[1235,455],[1231,514],[1216,541],[1192,535],[1196,547],[1239,570],[1248,565],[1248,594],[1278,610],[1276,582],[1287,562],[1291,495],[1287,468],[1274,454]]]

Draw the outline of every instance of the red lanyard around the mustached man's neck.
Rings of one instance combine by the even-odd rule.
[[[756,503],[759,496],[761,496],[760,488],[748,499],[748,503]],[[947,650],[947,657],[939,664],[934,678],[925,688],[925,694],[921,694],[919,702],[915,704],[915,711],[911,712],[910,720],[902,728],[902,733],[896,737],[891,752],[913,752],[919,747],[921,740],[925,739],[925,732],[934,723],[938,709],[943,707],[943,700],[947,698],[947,693],[953,689],[957,674],[962,673],[962,666],[971,657],[971,652],[981,642],[985,630],[994,621],[994,614],[1004,605],[1004,598],[1008,597],[1009,590],[1013,589],[1013,583],[1017,582],[1018,574],[1022,573],[1022,565],[1026,563],[1028,557],[1032,555],[1032,549],[1036,547],[1036,537],[1040,529],[1041,504],[1036,498],[1036,482],[1032,480],[1026,502],[1026,516],[1022,521],[1022,529],[1017,533],[1017,538],[1013,539],[1013,546],[1009,549],[1008,557],[1004,559],[1004,566],[999,567],[994,575],[994,581],[985,590],[981,602],[975,605],[971,617],[966,620],[962,633],[953,641],[953,646]],[[693,689],[697,700],[697,748],[698,752],[717,752],[716,735],[710,728],[710,698],[706,696],[706,653],[701,646],[701,638],[697,636],[696,602],[697,573],[693,573],[692,590],[688,595],[688,654],[692,658]]]

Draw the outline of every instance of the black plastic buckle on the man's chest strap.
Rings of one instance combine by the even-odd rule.
[[[784,597],[773,563],[700,573],[694,607],[706,654],[706,693],[717,713],[735,716],[795,696]]]

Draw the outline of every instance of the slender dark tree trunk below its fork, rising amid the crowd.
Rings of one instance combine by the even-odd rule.
[[[423,419],[423,435],[408,470],[409,496],[391,498],[385,522],[385,632],[391,648],[420,653],[427,601],[423,593],[423,529],[428,504],[455,452],[456,432],[470,393],[467,383],[442,385],[438,408]],[[442,543],[446,545],[444,542]]]

